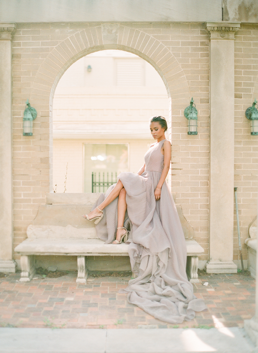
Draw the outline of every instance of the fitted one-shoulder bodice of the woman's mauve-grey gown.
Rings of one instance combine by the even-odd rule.
[[[161,173],[164,168],[164,155],[161,153],[161,148],[165,140],[161,140],[155,143],[151,148],[148,149],[144,156],[145,170],[149,172]]]

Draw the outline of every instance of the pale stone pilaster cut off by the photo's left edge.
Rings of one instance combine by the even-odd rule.
[[[14,23],[0,23],[0,271],[15,272],[12,195],[12,33]]]

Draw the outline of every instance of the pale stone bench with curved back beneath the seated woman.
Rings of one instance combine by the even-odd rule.
[[[46,204],[39,206],[35,220],[27,228],[27,239],[14,249],[20,255],[21,282],[28,282],[35,275],[36,255],[77,256],[79,283],[86,282],[88,256],[128,256],[127,244],[104,244],[96,235],[94,223],[81,216],[90,211],[99,195],[47,193]],[[193,229],[180,205],[177,210],[186,238],[186,273],[190,282],[198,282],[198,255],[204,250],[192,239]]]

